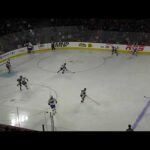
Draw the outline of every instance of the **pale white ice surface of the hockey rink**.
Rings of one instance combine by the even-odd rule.
[[[56,73],[66,62],[68,72]],[[11,60],[0,66],[0,123],[51,130],[48,99],[57,101],[55,131],[150,131],[150,56],[85,50],[56,50]],[[29,79],[29,90],[17,78]],[[87,88],[81,103],[80,92]],[[142,114],[141,114],[142,113]],[[136,122],[136,123],[135,123]]]

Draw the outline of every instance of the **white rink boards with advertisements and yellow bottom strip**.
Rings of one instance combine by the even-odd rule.
[[[130,53],[130,49],[134,47],[133,45],[121,45],[121,44],[105,44],[105,43],[83,43],[83,42],[70,42],[65,47],[56,47],[56,50],[83,50],[83,51],[99,51],[99,52],[106,52],[111,51],[111,47],[118,46],[119,53]],[[149,46],[137,46],[139,54],[150,54],[150,47]],[[33,53],[43,53],[51,51],[51,43],[41,44],[41,45],[34,45]],[[23,55],[28,54],[27,48],[19,48],[5,54],[0,55],[0,63],[6,61],[8,58],[17,58]]]

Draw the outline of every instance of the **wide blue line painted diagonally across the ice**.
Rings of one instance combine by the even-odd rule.
[[[147,102],[147,104],[145,105],[145,107],[143,108],[142,112],[140,113],[140,115],[137,117],[136,121],[134,122],[132,128],[135,129],[138,125],[138,123],[140,122],[140,120],[143,118],[144,114],[146,113],[146,110],[148,109],[150,105],[150,100]]]

